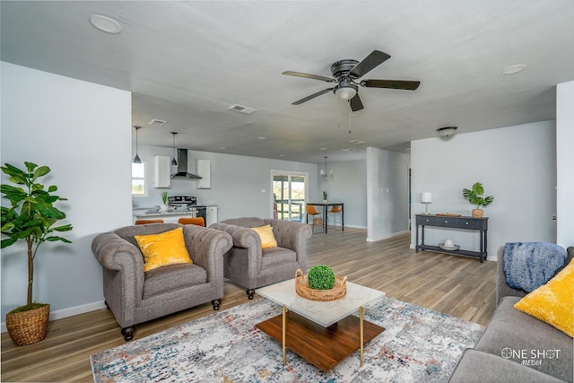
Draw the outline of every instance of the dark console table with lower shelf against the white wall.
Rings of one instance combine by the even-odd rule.
[[[446,215],[425,215],[425,214],[415,214],[416,217],[416,252],[421,250],[438,251],[440,253],[476,257],[479,258],[481,263],[486,259],[487,251],[487,231],[488,231],[488,218],[474,218],[474,217],[451,217]],[[419,226],[422,227],[421,230],[421,244],[419,244]],[[473,230],[479,231],[480,233],[480,251],[471,251],[459,248],[457,250],[447,250],[440,248],[439,246],[431,246],[424,244],[424,227],[442,227],[442,228],[452,228],[452,229],[462,229],[462,230]]]

